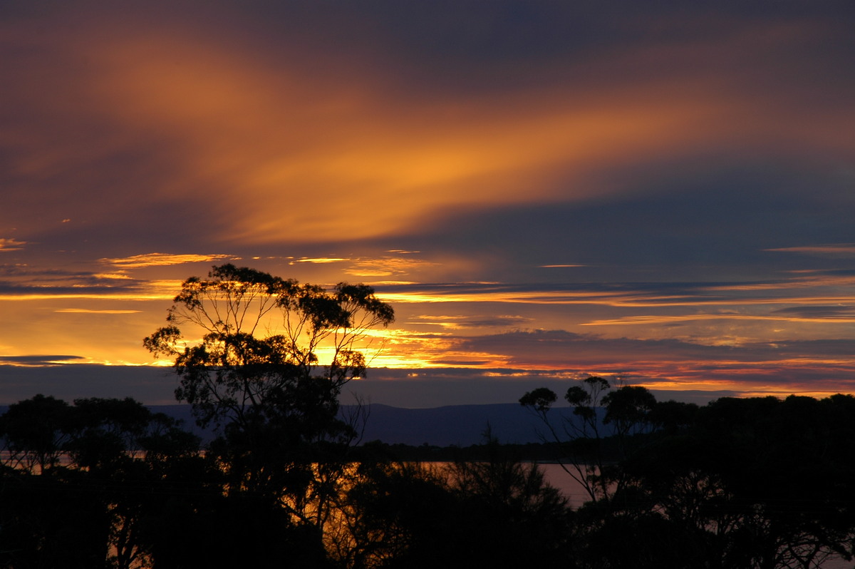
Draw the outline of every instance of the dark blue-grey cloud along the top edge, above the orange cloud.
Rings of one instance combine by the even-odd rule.
[[[846,21],[855,17],[845,3],[817,9],[816,5],[797,8],[793,3],[749,7],[740,2],[714,7],[677,2],[617,2],[604,7],[557,0],[500,1],[489,6],[452,0],[358,5],[262,2],[245,4],[245,10],[253,19],[262,16],[268,29],[304,41],[335,38],[339,48],[386,54],[386,66],[433,93],[438,88],[488,90],[533,82],[578,85],[592,78],[605,79],[596,64],[607,56],[652,48],[669,65],[657,67],[657,62],[641,58],[635,65],[628,61],[623,64],[623,79],[651,72],[673,74],[678,63],[684,68],[751,68],[755,82],[758,71],[782,74],[812,69],[826,75],[827,70],[817,70],[810,62],[820,59],[833,67],[836,62],[842,68],[840,59],[828,62],[829,48],[831,53],[839,52],[840,44],[829,44],[825,38],[847,33]],[[804,28],[812,32],[808,39],[792,32],[789,37],[774,34],[776,29]],[[312,33],[317,30],[327,34]],[[725,49],[723,40],[740,36],[753,36],[758,49]],[[693,49],[708,44],[714,47],[706,52]]]

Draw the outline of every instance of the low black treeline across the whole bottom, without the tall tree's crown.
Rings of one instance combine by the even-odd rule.
[[[538,450],[589,490],[575,509],[521,461],[534,447],[489,432],[483,445],[449,449],[457,456],[442,467],[381,442],[292,448],[250,483],[255,467],[239,479],[226,457],[257,465],[251,446],[203,452],[174,419],[130,399],[38,395],[0,417],[0,566],[763,569],[852,559],[855,397],[695,406],[579,383],[569,408],[551,409],[557,397],[545,390],[522,398],[556,436]]]

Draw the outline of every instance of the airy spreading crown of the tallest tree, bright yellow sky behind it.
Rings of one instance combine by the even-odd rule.
[[[233,264],[187,279],[174,303],[169,325],[144,346],[174,358],[175,396],[192,404],[203,426],[248,428],[270,414],[334,406],[339,389],[365,372],[358,348],[368,330],[394,320],[371,287],[341,282],[327,292]],[[201,341],[186,341],[184,324]]]

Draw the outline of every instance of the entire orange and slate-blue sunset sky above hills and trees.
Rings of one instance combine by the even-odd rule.
[[[3,2],[0,403],[168,402],[142,339],[223,263],[372,285],[379,402],[855,393],[852,29],[849,2]]]

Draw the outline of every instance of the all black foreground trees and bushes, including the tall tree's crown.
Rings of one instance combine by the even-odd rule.
[[[540,388],[569,507],[489,430],[448,465],[359,445],[338,396],[391,307],[233,265],[144,340],[217,437],[139,402],[38,395],[0,417],[0,567],[818,567],[855,549],[855,398],[659,402],[599,377]],[[180,326],[190,326],[188,335]],[[268,332],[261,335],[260,331]],[[198,341],[187,338],[200,338]],[[325,358],[322,358],[325,356]],[[325,361],[321,361],[325,359]],[[548,443],[548,444],[546,444]],[[529,449],[530,450],[530,449]]]

